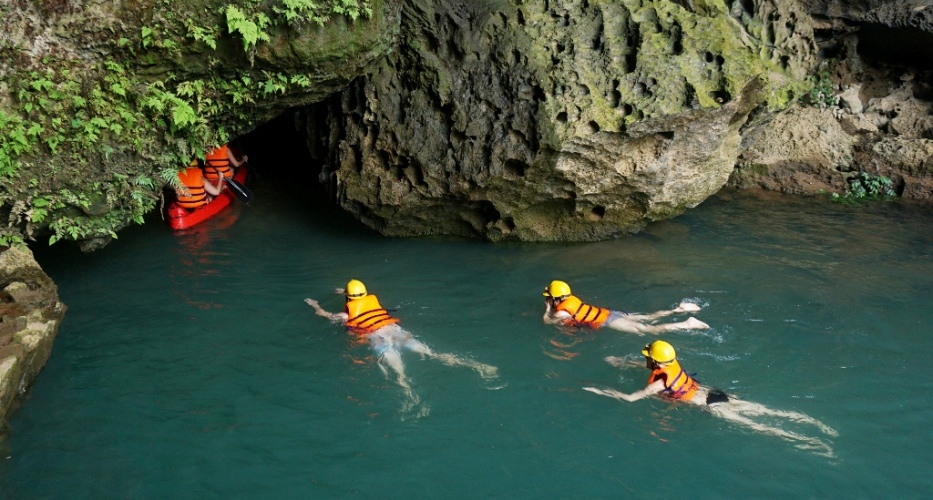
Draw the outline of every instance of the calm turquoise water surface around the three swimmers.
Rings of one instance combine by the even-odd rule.
[[[933,210],[726,193],[632,238],[493,245],[374,235],[271,181],[173,235],[37,250],[69,312],[12,419],[7,498],[927,496]],[[423,415],[368,346],[303,303],[366,282],[437,351],[407,353]],[[561,332],[541,290],[704,306],[664,335],[707,385],[817,418],[831,456],[692,405],[618,402],[650,337]],[[812,428],[786,425],[814,436]]]

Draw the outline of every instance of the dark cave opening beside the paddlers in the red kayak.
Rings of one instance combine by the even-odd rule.
[[[294,191],[297,197],[327,202],[318,180],[325,150],[314,146],[319,138],[309,138],[313,130],[319,130],[305,123],[309,116],[319,116],[313,106],[290,109],[232,141],[235,148],[249,155],[250,183],[275,183],[286,192]]]

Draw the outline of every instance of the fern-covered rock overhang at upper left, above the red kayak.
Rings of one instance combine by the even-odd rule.
[[[192,157],[340,91],[390,52],[399,9],[3,3],[0,244],[101,241],[141,222]]]

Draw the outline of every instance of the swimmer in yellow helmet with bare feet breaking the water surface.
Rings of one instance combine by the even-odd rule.
[[[706,330],[709,325],[696,318],[688,318],[678,323],[651,324],[665,316],[699,310],[700,306],[696,304],[681,302],[676,309],[650,314],[626,313],[584,304],[570,293],[570,286],[563,281],[554,280],[544,289],[544,322],[551,325],[585,326],[593,329],[608,326],[613,330],[638,335],[657,335],[677,330]]]

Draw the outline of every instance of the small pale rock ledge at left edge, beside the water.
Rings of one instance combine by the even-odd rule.
[[[0,250],[0,432],[52,352],[66,307],[25,248]]]

